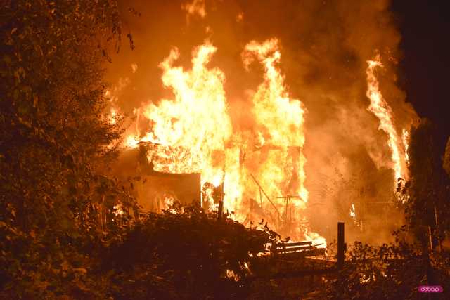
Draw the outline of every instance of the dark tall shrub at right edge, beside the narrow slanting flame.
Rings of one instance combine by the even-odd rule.
[[[426,119],[411,131],[411,179],[401,188],[408,195],[405,211],[409,232],[423,245],[429,241],[428,226],[436,237],[434,244],[450,230],[446,218],[450,214],[450,181],[442,166],[443,149],[436,141],[435,131],[435,125]]]

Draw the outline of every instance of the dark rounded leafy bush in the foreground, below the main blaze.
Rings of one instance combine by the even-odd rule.
[[[117,272],[115,299],[243,299],[250,290],[236,280],[270,240],[264,230],[175,204],[148,214],[104,263]]]

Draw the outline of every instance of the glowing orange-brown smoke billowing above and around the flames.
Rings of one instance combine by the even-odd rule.
[[[132,118],[142,103],[170,96],[158,65],[176,46],[177,63],[190,68],[192,49],[208,39],[218,48],[210,66],[226,76],[233,129],[248,129],[255,122],[249,95],[263,71],[258,64],[245,70],[243,49],[252,40],[277,38],[285,87],[306,108],[303,153],[312,229],[333,240],[336,222],[345,221],[349,240],[381,241],[394,226],[383,223],[395,219],[394,209],[375,202],[392,200],[394,175],[387,135],[367,110],[366,61],[376,53],[385,65],[377,77],[397,132],[409,129],[416,117],[396,84],[401,37],[389,5],[386,0],[122,1],[124,28],[135,48],[123,47],[108,68],[113,84],[127,78],[115,103]],[[364,218],[363,231],[349,216],[352,203],[356,218]]]

